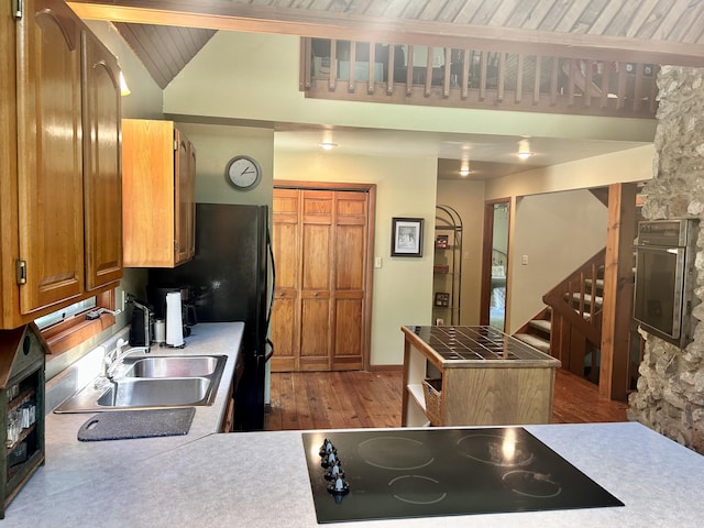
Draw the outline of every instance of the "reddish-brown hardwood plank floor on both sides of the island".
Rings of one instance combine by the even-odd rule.
[[[273,373],[267,431],[400,427],[402,372]],[[628,405],[598,395],[595,385],[558,370],[553,424],[626,421]]]

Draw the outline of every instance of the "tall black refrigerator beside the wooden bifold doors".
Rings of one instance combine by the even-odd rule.
[[[234,429],[264,428],[274,255],[267,206],[196,205],[196,255],[173,270],[152,268],[147,292],[187,288],[198,322],[244,321],[243,371],[234,392]],[[197,324],[193,329],[197,333]],[[186,338],[188,348],[188,338]]]

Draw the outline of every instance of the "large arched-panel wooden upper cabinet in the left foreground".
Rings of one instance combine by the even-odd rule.
[[[1,328],[122,276],[114,57],[59,0],[0,7]]]

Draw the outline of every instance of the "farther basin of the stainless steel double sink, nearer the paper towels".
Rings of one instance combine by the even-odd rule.
[[[129,358],[124,360],[125,377],[210,376],[221,369],[227,355],[189,355]]]

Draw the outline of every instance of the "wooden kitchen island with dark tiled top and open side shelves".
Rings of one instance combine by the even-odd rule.
[[[559,360],[493,327],[402,331],[403,426],[550,424]]]

